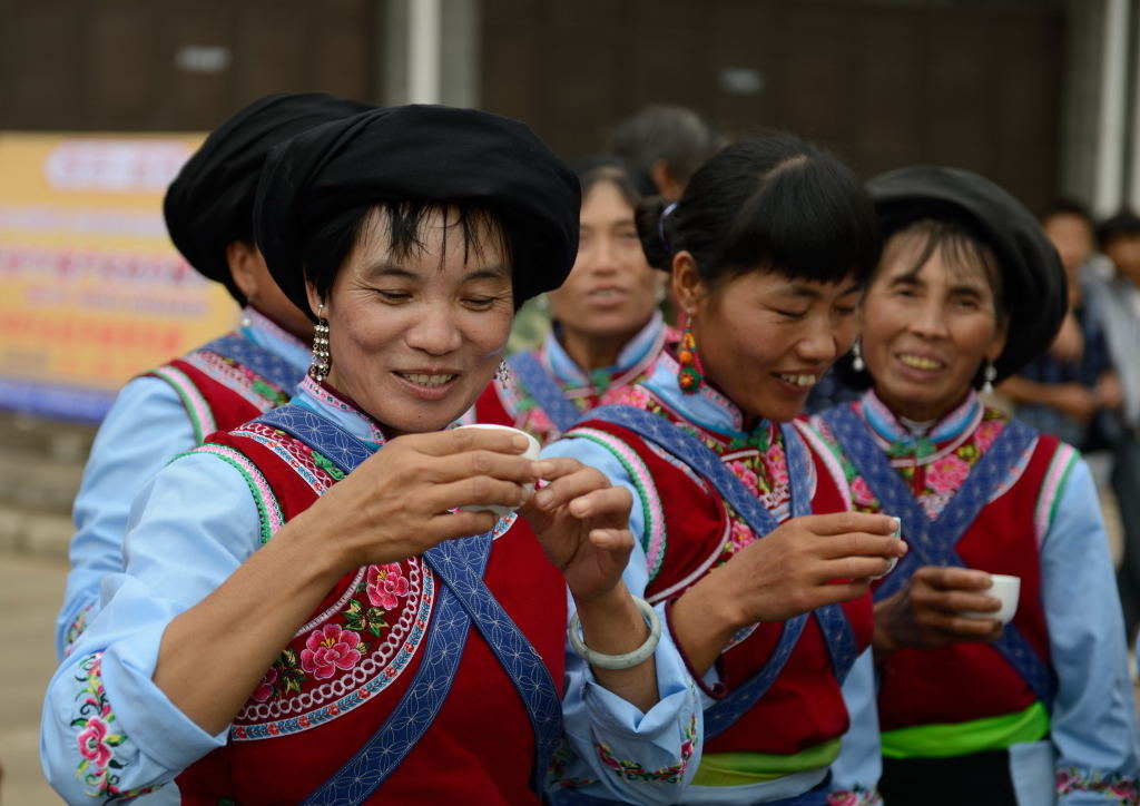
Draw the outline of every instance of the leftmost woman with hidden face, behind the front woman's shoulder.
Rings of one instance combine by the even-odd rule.
[[[129,382],[103,421],[75,497],[72,568],[56,621],[59,658],[98,612],[104,578],[122,570],[128,511],[142,483],[213,431],[286,402],[304,375],[312,328],[254,245],[253,198],[272,146],[367,108],[324,93],[261,98],[214,130],[166,190],[171,239],[242,306],[241,325]]]

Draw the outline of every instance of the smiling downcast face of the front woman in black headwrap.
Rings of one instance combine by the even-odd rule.
[[[388,226],[368,217],[325,300],[328,383],[393,435],[437,431],[474,402],[503,357],[511,266],[486,222],[464,243],[455,211],[425,213],[423,249],[406,255],[391,250]],[[309,299],[316,311],[311,287]]]

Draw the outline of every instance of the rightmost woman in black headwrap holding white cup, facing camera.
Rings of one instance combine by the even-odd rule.
[[[871,389],[813,422],[854,508],[899,518],[911,547],[874,593],[883,798],[1135,803],[1135,701],[1089,469],[976,393],[1052,341],[1057,253],[975,173],[906,168],[869,189],[886,246],[849,369]]]

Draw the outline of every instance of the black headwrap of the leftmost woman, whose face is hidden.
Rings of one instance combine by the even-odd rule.
[[[370,108],[324,92],[270,95],[243,108],[205,139],[166,189],[162,210],[174,246],[244,304],[226,246],[253,235],[253,198],[269,149],[306,129]]]

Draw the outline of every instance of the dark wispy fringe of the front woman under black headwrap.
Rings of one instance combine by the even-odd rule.
[[[480,254],[486,237],[500,238],[504,255],[511,260],[513,253],[511,233],[492,213],[481,207],[451,205],[441,207],[435,204],[383,202],[375,206],[357,206],[344,210],[339,215],[325,221],[324,225],[307,238],[304,244],[304,276],[312,283],[321,299],[327,299],[332,292],[336,275],[352,249],[364,243],[367,228],[373,215],[386,219],[385,230],[389,247],[393,255],[407,258],[422,253],[425,249],[423,229],[434,213],[445,215],[446,226],[463,229],[464,257],[474,252]],[[440,255],[442,258],[442,255]],[[522,304],[515,301],[515,308]]]

